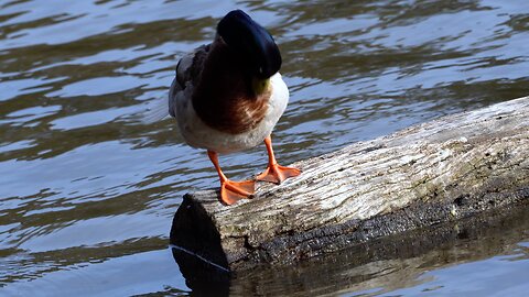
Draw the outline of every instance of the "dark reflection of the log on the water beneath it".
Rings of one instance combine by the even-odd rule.
[[[518,250],[529,260],[529,205],[488,211],[429,229],[391,235],[292,266],[261,265],[228,273],[173,248],[196,296],[378,295],[431,282],[425,274]],[[515,248],[514,248],[515,246]]]

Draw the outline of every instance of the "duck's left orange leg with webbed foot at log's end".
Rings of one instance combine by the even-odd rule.
[[[223,170],[220,169],[220,165],[218,165],[218,156],[217,153],[213,151],[207,151],[207,155],[212,161],[215,169],[218,173],[218,178],[220,179],[220,201],[225,205],[233,205],[240,199],[249,199],[251,195],[256,191],[255,186],[256,183],[253,180],[245,180],[245,182],[233,182],[229,180],[226,175],[224,175]]]

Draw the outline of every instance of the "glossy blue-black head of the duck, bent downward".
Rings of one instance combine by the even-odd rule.
[[[217,25],[217,33],[246,59],[258,78],[270,78],[281,68],[281,54],[272,35],[241,10],[226,14]]]

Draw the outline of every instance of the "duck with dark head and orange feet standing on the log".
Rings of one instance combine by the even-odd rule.
[[[187,145],[206,150],[218,174],[224,205],[252,198],[256,182],[281,184],[301,174],[299,168],[279,165],[272,148],[272,130],[289,101],[289,89],[279,73],[281,64],[272,35],[246,12],[234,10],[218,22],[212,43],[176,65],[162,114],[169,112],[176,120]],[[219,154],[262,142],[268,166],[261,174],[242,182],[226,177]]]

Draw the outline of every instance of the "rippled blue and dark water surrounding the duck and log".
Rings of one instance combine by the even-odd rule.
[[[527,0],[0,0],[0,295],[193,294],[169,230],[182,195],[217,186],[216,173],[172,121],[130,114],[166,96],[179,57],[235,8],[283,54],[291,101],[274,147],[287,164],[529,95]],[[220,162],[242,178],[264,167],[266,151]],[[285,279],[256,271],[228,289],[522,296],[528,220],[490,235],[489,253],[458,243],[356,271],[331,265],[343,286],[309,282],[321,271],[303,265]]]

